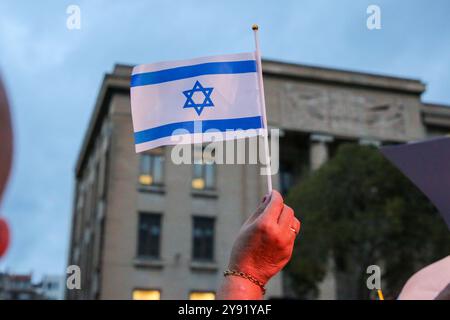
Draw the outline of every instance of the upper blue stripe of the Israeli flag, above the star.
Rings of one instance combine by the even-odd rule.
[[[203,76],[207,74],[232,74],[247,72],[256,72],[255,60],[207,62],[192,66],[134,74],[131,76],[130,86],[146,86],[150,84],[158,84],[168,81]]]

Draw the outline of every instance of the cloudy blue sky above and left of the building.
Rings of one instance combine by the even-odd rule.
[[[81,30],[66,8],[81,9]],[[366,28],[381,8],[382,29]],[[74,166],[103,75],[115,63],[253,50],[263,57],[420,79],[450,104],[450,2],[2,1],[0,70],[13,107],[15,163],[0,208],[13,233],[0,270],[63,273]]]

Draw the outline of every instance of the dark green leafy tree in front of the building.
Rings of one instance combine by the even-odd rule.
[[[450,233],[433,205],[373,147],[345,144],[289,193],[302,222],[287,272],[313,298],[331,258],[339,299],[366,299],[366,268],[380,265],[383,292],[396,297],[424,265],[450,253]]]

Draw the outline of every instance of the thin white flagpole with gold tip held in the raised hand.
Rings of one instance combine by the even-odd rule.
[[[259,49],[259,35],[258,35],[258,25],[254,24],[252,26],[253,34],[255,36],[255,47],[256,47],[256,63],[258,66],[258,81],[259,81],[259,92],[261,96],[261,104],[262,104],[262,114],[264,121],[264,154],[266,157],[266,165],[267,165],[267,189],[269,192],[272,192],[272,167],[270,162],[270,154],[269,154],[269,128],[267,127],[267,116],[266,116],[266,100],[264,98],[264,83],[262,78],[262,63],[261,63],[261,51]]]

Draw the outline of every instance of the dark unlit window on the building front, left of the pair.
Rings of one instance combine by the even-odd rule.
[[[161,238],[161,215],[139,214],[138,257],[159,258]]]

